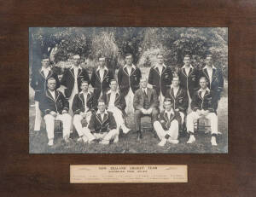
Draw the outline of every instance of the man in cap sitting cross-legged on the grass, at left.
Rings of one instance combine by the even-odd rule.
[[[106,110],[105,102],[100,98],[98,111],[92,113],[88,128],[84,130],[84,136],[87,137],[89,143],[101,140],[101,144],[109,144],[112,139],[116,143],[119,141],[119,130],[116,128],[113,113]]]

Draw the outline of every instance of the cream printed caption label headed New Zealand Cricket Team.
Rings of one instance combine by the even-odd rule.
[[[188,183],[188,166],[70,165],[70,183]]]

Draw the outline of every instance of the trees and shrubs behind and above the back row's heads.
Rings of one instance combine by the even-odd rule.
[[[49,54],[56,67],[69,67],[68,57],[79,54],[81,64],[97,67],[97,58],[105,55],[108,67],[125,64],[125,53],[134,56],[138,67],[154,65],[155,55],[163,50],[166,65],[182,67],[183,56],[191,55],[194,67],[204,67],[207,53],[214,66],[228,77],[228,28],[226,27],[32,27],[30,28],[30,65],[40,66],[43,54]]]

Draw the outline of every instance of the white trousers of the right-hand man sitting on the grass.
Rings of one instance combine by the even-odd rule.
[[[169,130],[164,130],[159,121],[154,121],[154,130],[156,131],[156,134],[159,136],[160,140],[165,138],[166,134],[171,136],[172,140],[177,140],[178,122],[176,119],[172,120]]]

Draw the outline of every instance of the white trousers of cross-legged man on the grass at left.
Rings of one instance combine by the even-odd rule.
[[[118,130],[109,130],[108,132],[104,132],[104,133],[93,133],[92,134],[87,127],[84,127],[83,131],[84,131],[84,136],[86,136],[89,141],[92,141],[94,139],[109,141],[109,140],[114,139],[116,136],[119,136]]]

